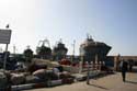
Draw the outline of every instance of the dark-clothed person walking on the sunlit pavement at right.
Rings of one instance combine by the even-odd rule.
[[[123,81],[125,82],[126,80],[126,72],[128,70],[128,62],[126,60],[121,61],[121,69],[122,69],[122,78]]]

